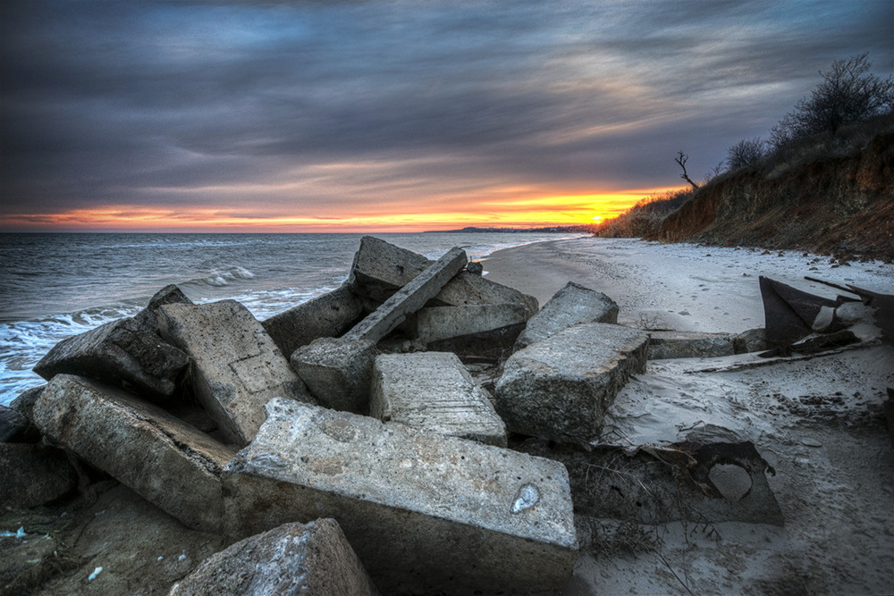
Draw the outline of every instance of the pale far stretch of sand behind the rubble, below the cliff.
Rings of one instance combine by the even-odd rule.
[[[833,261],[797,251],[582,237],[504,248],[482,264],[487,279],[534,296],[540,306],[575,281],[617,302],[619,323],[738,333],[763,327],[761,275],[832,299],[838,290],[804,276],[894,294],[894,264]]]

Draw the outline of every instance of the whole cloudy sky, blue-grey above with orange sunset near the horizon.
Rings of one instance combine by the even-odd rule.
[[[0,231],[588,223],[702,180],[892,0],[3,0]]]

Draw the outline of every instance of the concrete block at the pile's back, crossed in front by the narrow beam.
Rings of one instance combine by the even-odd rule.
[[[411,250],[364,236],[354,256],[348,283],[359,296],[384,302],[430,264],[425,256]],[[513,304],[524,307],[527,316],[534,315],[538,308],[533,296],[465,271],[449,281],[432,302],[432,306]]]

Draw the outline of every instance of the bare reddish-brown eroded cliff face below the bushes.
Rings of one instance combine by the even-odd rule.
[[[733,172],[650,239],[894,258],[894,132],[849,155]]]

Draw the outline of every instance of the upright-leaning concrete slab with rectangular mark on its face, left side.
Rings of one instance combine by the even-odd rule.
[[[269,399],[316,403],[261,323],[235,300],[164,305],[158,324],[164,339],[192,358],[198,401],[227,441],[251,441]]]

